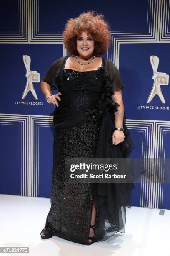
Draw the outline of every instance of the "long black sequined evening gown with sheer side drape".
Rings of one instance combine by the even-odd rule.
[[[134,144],[125,121],[124,142],[116,146],[111,143],[118,104],[111,100],[112,85],[104,59],[100,68],[84,72],[64,69],[66,59],[56,75],[62,100],[53,118],[51,208],[45,228],[53,235],[85,244],[90,232],[93,201],[97,241],[106,240],[117,231],[125,232],[125,207],[131,205],[130,192],[134,184],[67,183],[65,159],[124,158],[129,156]]]

